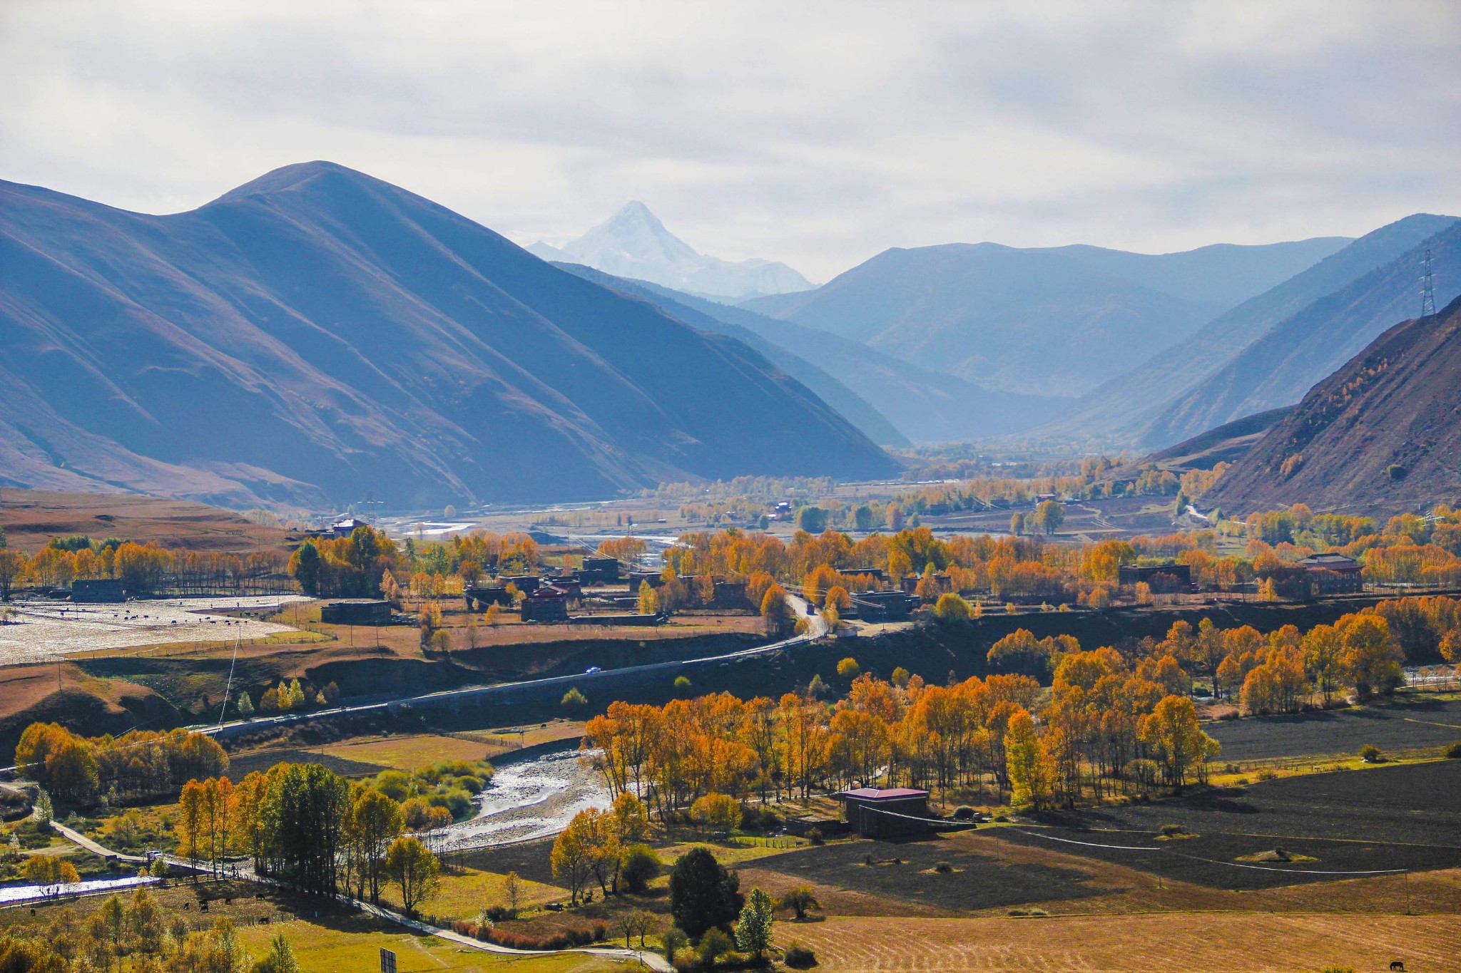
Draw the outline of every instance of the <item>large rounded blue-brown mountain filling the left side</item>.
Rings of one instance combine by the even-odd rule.
[[[145,216],[0,182],[0,484],[329,508],[887,476],[745,344],[327,162]]]

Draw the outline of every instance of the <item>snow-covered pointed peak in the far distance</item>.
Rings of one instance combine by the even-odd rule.
[[[527,251],[548,261],[583,264],[615,277],[649,280],[723,301],[806,290],[812,284],[786,264],[770,260],[732,263],[697,252],[650,213],[631,201],[603,223],[562,247],[542,241]]]

